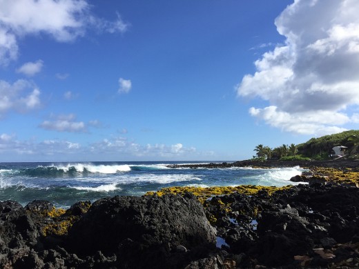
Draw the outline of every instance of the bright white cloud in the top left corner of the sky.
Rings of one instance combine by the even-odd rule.
[[[119,15],[106,21],[93,15],[85,0],[0,0],[0,64],[17,58],[17,39],[28,34],[48,34],[61,42],[73,41],[86,30],[125,32],[128,23]]]

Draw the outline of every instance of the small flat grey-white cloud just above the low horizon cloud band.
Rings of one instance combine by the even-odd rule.
[[[83,121],[76,121],[75,114],[52,116],[52,120],[43,121],[39,127],[57,132],[86,132]]]

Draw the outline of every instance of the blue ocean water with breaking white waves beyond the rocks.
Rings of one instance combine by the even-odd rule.
[[[222,161],[221,161],[222,162]],[[168,168],[170,164],[206,162],[0,163],[0,201],[26,206],[45,199],[68,208],[115,195],[144,195],[170,186],[287,186],[304,169]]]

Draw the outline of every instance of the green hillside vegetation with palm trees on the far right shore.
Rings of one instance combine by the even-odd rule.
[[[276,148],[270,148],[262,144],[255,146],[256,152],[253,159],[267,160],[279,159],[282,161],[305,161],[309,159],[325,160],[331,159],[332,150],[335,146],[348,148],[347,159],[359,159],[359,130],[349,130],[334,135],[312,138],[305,143],[290,146],[282,144]]]

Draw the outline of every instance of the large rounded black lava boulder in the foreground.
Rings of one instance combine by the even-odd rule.
[[[215,243],[215,231],[201,204],[174,195],[100,199],[69,235],[73,250],[86,253],[112,250],[126,239],[188,249]]]

